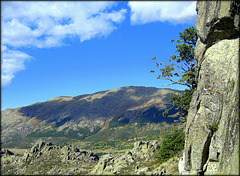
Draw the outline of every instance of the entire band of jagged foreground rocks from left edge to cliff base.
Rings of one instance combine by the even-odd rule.
[[[153,159],[159,149],[157,141],[139,141],[123,154],[103,155],[100,160],[92,152],[73,145],[55,146],[37,142],[23,156],[9,150],[1,152],[3,175],[169,175],[176,171],[178,157],[159,165]]]

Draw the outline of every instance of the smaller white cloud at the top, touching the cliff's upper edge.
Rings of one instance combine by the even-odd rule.
[[[130,1],[131,23],[145,24],[161,21],[179,23],[195,23],[197,18],[196,1]]]

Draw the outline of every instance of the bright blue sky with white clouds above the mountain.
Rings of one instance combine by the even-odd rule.
[[[196,19],[195,1],[2,1],[1,109],[124,86],[184,90],[150,73],[150,58],[167,62]]]

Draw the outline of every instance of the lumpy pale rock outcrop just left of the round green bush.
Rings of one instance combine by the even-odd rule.
[[[92,169],[90,175],[109,175],[109,174],[141,174],[146,173],[149,168],[139,168],[141,160],[148,161],[154,152],[159,149],[157,141],[139,141],[134,144],[134,148],[125,154],[116,156],[104,155],[98,164]]]

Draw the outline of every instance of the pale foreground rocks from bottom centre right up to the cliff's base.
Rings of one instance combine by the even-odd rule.
[[[158,141],[138,141],[132,150],[118,155],[104,155],[88,175],[178,175],[179,157],[159,164],[154,153],[160,148]]]

